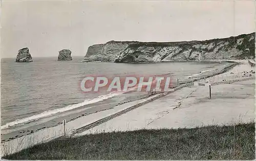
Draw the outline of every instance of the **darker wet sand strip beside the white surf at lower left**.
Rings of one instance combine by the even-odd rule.
[[[15,126],[8,129],[3,129],[1,131],[1,142],[8,142],[18,137],[22,137],[37,132],[41,129],[60,125],[62,124],[63,120],[66,120],[66,122],[70,122],[75,119],[88,116],[92,113],[112,109],[117,105],[147,98],[148,95],[149,94],[147,93],[127,93],[123,94],[122,96],[114,97],[112,99],[103,100],[97,103],[81,106],[79,108],[76,108],[76,110],[58,113],[57,115],[52,116],[50,118],[42,118],[40,120],[37,120],[36,122],[30,122],[24,125],[20,125],[19,127]]]

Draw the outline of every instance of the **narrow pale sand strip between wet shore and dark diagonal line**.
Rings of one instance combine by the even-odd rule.
[[[104,119],[108,116],[112,116],[117,112],[121,112],[123,110],[129,109],[133,106],[136,106],[137,104],[151,100],[152,98],[155,98],[158,96],[159,95],[153,95],[148,98],[124,103],[121,105],[117,105],[112,109],[92,113],[92,114],[89,114],[88,116],[80,117],[78,119],[70,121],[66,124],[66,134],[70,135],[72,134],[72,129],[79,129],[82,127],[86,127],[100,119]],[[50,140],[63,136],[63,134],[64,134],[63,125],[57,125],[54,127],[41,129],[39,131],[33,132],[32,134],[18,137],[8,142],[1,143],[2,156],[8,152],[15,153],[22,149],[33,146],[35,144],[48,142]]]

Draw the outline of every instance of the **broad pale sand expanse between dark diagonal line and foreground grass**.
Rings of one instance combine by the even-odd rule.
[[[230,71],[218,75],[221,78],[219,82],[213,77],[209,78],[212,84],[211,99],[209,99],[209,86],[184,87],[75,136],[111,131],[193,128],[255,121],[255,74],[252,77],[236,77],[237,73],[250,70],[254,71],[254,68],[241,62]]]

